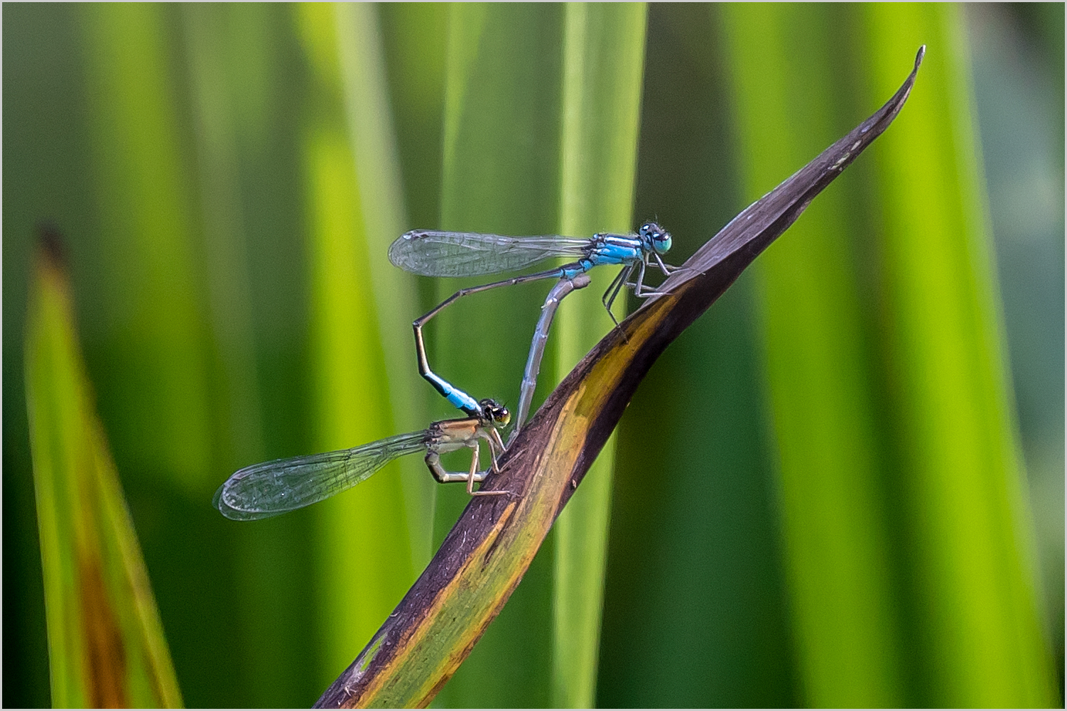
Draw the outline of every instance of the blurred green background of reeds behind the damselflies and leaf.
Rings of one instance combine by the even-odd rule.
[[[49,705],[22,381],[34,226],[67,239],[186,702],[308,706],[465,494],[437,491],[417,458],[262,522],[226,521],[211,493],[248,463],[453,416],[415,375],[410,321],[456,284],[395,273],[385,248],[413,227],[560,230],[570,12],[4,5],[4,706]],[[1062,705],[1063,5],[654,4],[644,21],[630,226],[658,219],[673,264],[928,52],[897,123],[623,417],[595,701]],[[944,185],[955,202],[937,202]],[[952,301],[969,274],[973,294]],[[564,328],[607,331],[596,290],[563,304],[561,319],[582,310]],[[437,319],[437,370],[514,405],[543,293]],[[938,320],[945,303],[973,318]],[[943,341],[915,346],[927,314]],[[550,343],[535,406],[573,363],[564,350]],[[917,352],[940,364],[933,382]],[[987,397],[959,399],[987,361]],[[1006,454],[969,448],[975,412],[1001,423]],[[961,424],[938,430],[946,420]],[[1008,463],[978,476],[997,456]],[[978,527],[938,527],[957,519]],[[962,585],[990,551],[987,578],[1012,569],[1018,589]],[[550,536],[439,705],[558,698],[554,554]],[[1018,648],[970,651],[1002,637]]]

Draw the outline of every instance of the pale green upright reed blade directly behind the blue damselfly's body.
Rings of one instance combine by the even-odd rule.
[[[633,200],[646,15],[643,3],[567,5],[560,234],[627,233],[636,226]],[[616,269],[594,270],[592,284],[560,307],[552,331],[559,344],[559,373],[574,367],[614,327],[599,297],[616,273]],[[624,315],[624,301],[616,301],[618,316]],[[555,525],[552,705],[556,708],[595,704],[614,460],[611,439]]]

